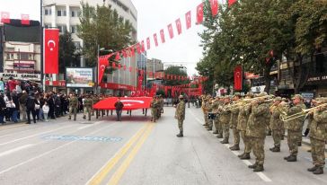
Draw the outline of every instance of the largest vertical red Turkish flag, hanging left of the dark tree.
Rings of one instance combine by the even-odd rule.
[[[59,30],[44,30],[44,74],[58,74]]]

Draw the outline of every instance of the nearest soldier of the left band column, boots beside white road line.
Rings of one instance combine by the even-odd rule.
[[[266,96],[267,93],[260,93],[258,97]],[[264,163],[264,140],[266,138],[267,114],[270,114],[270,105],[265,99],[252,101],[251,115],[246,126],[246,137],[249,137],[255,163],[249,165],[253,172],[262,172]]]

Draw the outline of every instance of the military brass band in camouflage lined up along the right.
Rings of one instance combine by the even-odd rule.
[[[316,98],[307,103],[300,94],[292,101],[285,98],[260,93],[254,96],[247,93],[241,97],[234,96],[213,98],[202,95],[202,110],[208,130],[214,130],[218,138],[223,138],[222,144],[229,143],[230,129],[233,132],[234,145],[231,150],[240,150],[241,138],[244,144],[241,160],[251,158],[254,154],[255,163],[249,165],[253,172],[262,172],[265,161],[264,143],[266,136],[274,141],[271,152],[280,152],[281,140],[287,136],[289,155],[284,157],[289,163],[297,161],[298,146],[302,145],[305,119],[308,126],[304,135],[310,136],[311,153],[314,166],[307,169],[314,174],[323,174],[325,164],[325,144],[327,141],[327,98]],[[312,107],[307,109],[307,107]]]

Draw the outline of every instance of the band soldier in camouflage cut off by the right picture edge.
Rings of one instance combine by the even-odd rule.
[[[317,104],[327,105],[327,99],[321,98],[317,101]],[[310,142],[311,142],[311,154],[313,157],[314,167],[309,168],[309,172],[314,174],[323,174],[323,168],[325,164],[325,142],[327,141],[327,106],[323,106],[315,109],[312,112],[313,120],[310,125]]]

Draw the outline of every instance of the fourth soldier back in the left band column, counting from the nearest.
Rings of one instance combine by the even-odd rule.
[[[230,98],[225,96],[224,105],[220,107],[220,116],[219,122],[222,124],[223,132],[224,132],[224,140],[221,141],[221,144],[228,144],[229,139],[229,121],[231,119],[231,112],[229,110],[225,110],[226,106],[229,104]]]

